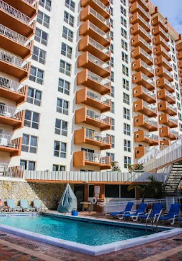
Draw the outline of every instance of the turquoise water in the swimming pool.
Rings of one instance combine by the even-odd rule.
[[[0,224],[90,246],[100,246],[153,233],[152,231],[146,232],[145,229],[82,222],[51,216],[0,217]]]

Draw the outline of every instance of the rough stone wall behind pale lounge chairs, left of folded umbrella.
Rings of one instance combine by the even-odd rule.
[[[28,204],[38,198],[42,201],[45,209],[56,209],[58,201],[65,189],[66,184],[17,182],[0,180],[0,197],[6,201],[12,198],[19,205],[20,200],[25,198]]]

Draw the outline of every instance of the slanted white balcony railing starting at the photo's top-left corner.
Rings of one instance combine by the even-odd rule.
[[[33,28],[34,24],[33,23],[30,24],[30,22],[31,22],[31,18],[30,17],[28,17],[27,15],[25,15],[22,12],[18,11],[14,7],[8,5],[7,3],[5,3],[2,0],[0,0],[0,9],[3,9],[6,13],[11,15],[12,17],[18,19],[19,21],[21,21],[21,22],[23,22],[23,23],[25,23],[28,26]]]

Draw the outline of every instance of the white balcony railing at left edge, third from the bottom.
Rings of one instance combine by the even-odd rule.
[[[0,104],[0,115],[13,118],[17,120],[22,119],[22,110],[16,110],[14,107],[6,106],[4,104]]]

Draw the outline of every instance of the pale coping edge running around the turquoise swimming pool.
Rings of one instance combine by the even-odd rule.
[[[21,214],[19,214],[19,215],[21,215]],[[145,225],[143,225],[143,224],[133,224],[131,222],[124,222],[123,223],[123,222],[118,222],[118,221],[115,221],[115,220],[105,221],[105,220],[102,220],[102,219],[99,219],[99,218],[95,219],[95,218],[88,218],[88,217],[87,218],[85,218],[85,217],[72,217],[70,215],[61,215],[61,214],[52,214],[52,213],[43,213],[43,215],[54,216],[54,217],[59,217],[59,218],[66,218],[66,219],[69,218],[69,219],[72,219],[72,220],[80,220],[80,221],[85,221],[85,222],[92,221],[92,222],[95,222],[95,223],[110,224],[110,225],[115,225],[115,226],[130,226],[130,227],[132,226],[132,227],[135,227],[135,228],[141,228],[141,227],[144,228],[145,227]],[[151,227],[152,227],[151,225],[148,225],[149,229]],[[166,227],[164,227],[164,226],[159,226],[158,228],[159,229],[166,229]],[[26,231],[24,229],[17,229],[15,227],[3,225],[3,224],[0,224],[0,230],[6,231],[8,233],[12,233],[12,234],[15,234],[15,235],[18,235],[18,236],[22,236],[22,237],[25,237],[25,238],[29,238],[31,240],[39,241],[39,242],[42,242],[42,243],[45,243],[45,244],[50,244],[50,245],[54,245],[56,247],[62,247],[62,248],[65,248],[65,249],[69,249],[69,250],[72,250],[72,251],[81,252],[81,253],[85,253],[85,254],[93,255],[93,256],[111,253],[111,252],[118,251],[118,250],[121,250],[121,249],[129,248],[129,247],[135,247],[135,246],[140,245],[140,244],[146,244],[146,243],[149,243],[149,242],[161,240],[161,239],[172,237],[174,235],[178,235],[178,234],[182,233],[182,229],[180,229],[180,228],[167,228],[167,230],[165,230],[165,231],[161,231],[161,232],[151,234],[151,235],[141,236],[141,237],[137,237],[137,238],[131,238],[131,239],[113,242],[113,243],[109,243],[109,244],[103,244],[101,246],[89,246],[89,245],[76,243],[76,242],[69,241],[69,240],[62,240],[62,239],[59,239],[59,238],[54,238],[54,237],[51,237],[51,236]]]

